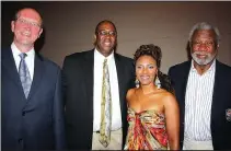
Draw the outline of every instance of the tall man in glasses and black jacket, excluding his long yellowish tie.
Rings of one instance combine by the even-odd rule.
[[[111,21],[95,28],[95,48],[67,56],[63,62],[68,149],[120,150],[127,135],[127,90],[135,86],[130,58],[115,53],[117,31]],[[100,141],[103,63],[107,59],[112,98],[111,141]],[[106,117],[105,117],[106,118]]]

